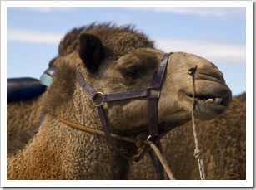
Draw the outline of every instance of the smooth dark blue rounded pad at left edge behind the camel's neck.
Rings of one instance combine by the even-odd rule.
[[[45,90],[46,85],[43,85],[38,79],[22,77],[7,80],[8,102],[32,99],[41,95]]]

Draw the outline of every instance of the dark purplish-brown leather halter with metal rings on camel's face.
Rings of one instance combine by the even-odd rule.
[[[78,80],[78,84],[83,88],[86,94],[93,100],[93,104],[96,106],[98,110],[99,119],[103,125],[103,132],[108,138],[110,144],[113,145],[113,148],[123,157],[128,160],[138,161],[140,158],[143,158],[143,155],[148,152],[148,149],[144,149],[143,153],[139,155],[137,158],[128,158],[124,153],[118,149],[118,146],[114,143],[111,138],[108,130],[107,120],[103,111],[103,104],[105,102],[112,102],[117,100],[128,100],[128,99],[136,99],[142,97],[148,97],[148,119],[149,119],[149,131],[148,131],[148,139],[151,139],[153,143],[158,143],[159,139],[163,137],[163,134],[158,133],[158,99],[161,93],[161,85],[163,83],[163,76],[166,71],[166,67],[168,64],[168,57],[172,53],[165,54],[160,61],[158,66],[158,71],[154,76],[153,84],[148,86],[146,89],[136,89],[136,90],[127,90],[123,92],[116,92],[110,94],[103,94],[102,92],[97,92],[91,87],[86,80],[83,79],[83,76],[79,71],[76,71],[76,79]],[[160,146],[160,144],[158,144]],[[150,152],[150,156],[153,159],[153,163],[157,170],[159,167],[156,167],[158,163],[156,163],[156,158],[153,158],[153,152]],[[161,165],[161,164],[160,164]],[[161,170],[161,168],[160,168]],[[162,168],[163,170],[163,168]],[[158,173],[163,173],[163,171],[158,171]],[[161,177],[163,178],[163,176]]]

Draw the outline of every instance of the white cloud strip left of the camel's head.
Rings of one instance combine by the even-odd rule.
[[[58,44],[64,33],[57,32],[42,32],[33,30],[23,30],[8,28],[7,38],[8,41],[23,41],[30,43],[42,44]]]

